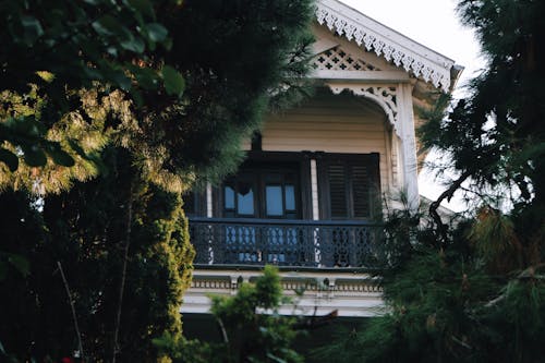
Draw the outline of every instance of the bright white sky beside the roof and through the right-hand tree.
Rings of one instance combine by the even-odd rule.
[[[452,59],[464,66],[453,95],[464,95],[463,85],[484,68],[480,46],[472,29],[461,25],[456,14],[457,0],[340,0],[347,5]],[[426,160],[433,160],[429,155]],[[419,178],[420,193],[435,199],[446,189],[433,173],[423,170]],[[446,204],[462,210],[463,204],[455,199]]]

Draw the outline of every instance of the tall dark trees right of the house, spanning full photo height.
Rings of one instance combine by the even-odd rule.
[[[413,225],[412,242],[389,241],[400,256],[383,271],[389,311],[351,335],[348,360],[536,362],[544,353],[545,4],[468,0],[458,10],[488,66],[421,134],[458,177],[427,227]],[[472,209],[447,226],[436,209],[456,191]]]

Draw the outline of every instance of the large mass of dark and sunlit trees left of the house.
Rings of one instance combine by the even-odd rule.
[[[2,4],[0,183],[39,232],[2,239],[14,358],[157,358],[191,270],[180,193],[232,170],[264,112],[306,92],[311,1],[150,4]]]

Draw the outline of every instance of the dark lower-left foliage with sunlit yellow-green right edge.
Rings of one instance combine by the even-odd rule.
[[[138,174],[122,149],[106,149],[104,160],[107,176],[47,197],[43,215],[28,207],[40,234],[33,235],[36,231],[25,226],[33,221],[17,214],[14,218],[20,220],[10,220],[12,226],[3,228],[2,246],[29,262],[27,278],[12,271],[1,285],[2,295],[10,299],[1,302],[0,340],[20,359],[59,360],[77,348],[57,261],[72,289],[86,359],[110,359],[128,228],[126,185]],[[179,306],[189,287],[194,252],[179,195],[145,180],[135,185],[120,359],[143,362],[156,358],[152,338],[181,334]],[[9,195],[3,194],[3,206],[10,207]]]

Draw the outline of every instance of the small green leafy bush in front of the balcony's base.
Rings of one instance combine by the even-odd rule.
[[[243,283],[234,297],[213,297],[222,343],[177,341],[168,335],[155,342],[173,362],[302,362],[291,348],[295,319],[278,315],[281,300],[278,270],[265,266],[263,276]]]

